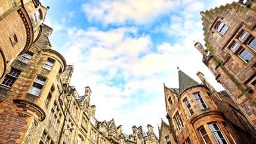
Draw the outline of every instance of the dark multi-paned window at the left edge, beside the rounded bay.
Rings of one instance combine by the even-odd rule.
[[[4,80],[2,81],[2,85],[11,87],[13,83],[17,80],[18,76],[20,76],[20,71],[14,68],[11,68],[8,74],[6,74]]]

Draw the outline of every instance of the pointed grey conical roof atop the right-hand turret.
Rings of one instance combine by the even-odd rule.
[[[179,83],[179,91],[182,93],[184,90],[188,89],[192,86],[198,86],[201,85],[195,80],[193,80],[191,77],[187,76],[183,71],[178,70],[178,83]]]

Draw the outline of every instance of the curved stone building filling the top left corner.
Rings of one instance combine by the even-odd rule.
[[[1,0],[0,80],[13,60],[38,40],[47,9],[39,0]]]

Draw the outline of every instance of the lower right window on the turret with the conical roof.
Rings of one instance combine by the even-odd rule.
[[[227,143],[217,123],[211,123],[208,124],[208,126],[210,127],[212,134],[214,134],[215,140],[217,141],[218,144]]]

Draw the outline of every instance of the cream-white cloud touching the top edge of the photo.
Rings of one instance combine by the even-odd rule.
[[[170,0],[103,0],[89,1],[83,5],[83,10],[90,21],[100,21],[105,24],[135,22],[149,23],[161,14],[167,14],[174,7]]]

